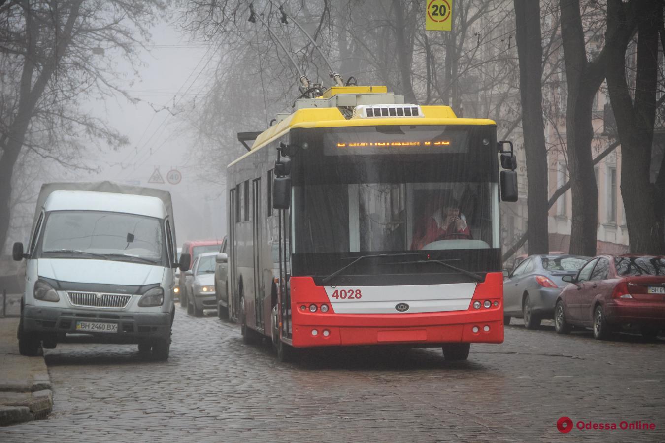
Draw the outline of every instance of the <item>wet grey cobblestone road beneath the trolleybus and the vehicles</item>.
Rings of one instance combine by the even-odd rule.
[[[135,346],[47,350],[48,420],[0,428],[1,442],[665,441],[665,341],[551,326],[506,328],[502,345],[312,352],[283,364],[239,328],[180,308],[166,363]],[[573,422],[653,422],[656,430],[557,431]]]

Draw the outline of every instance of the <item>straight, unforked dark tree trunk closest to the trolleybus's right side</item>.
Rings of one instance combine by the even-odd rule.
[[[540,4],[514,0],[519,58],[519,92],[522,104],[524,150],[527,157],[527,220],[529,254],[549,252],[547,230],[547,148],[543,121],[543,46]]]

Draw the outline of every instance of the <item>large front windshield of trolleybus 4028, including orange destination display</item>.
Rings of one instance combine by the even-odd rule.
[[[291,143],[294,274],[330,275],[349,257],[388,252],[500,269],[495,126],[293,130]],[[344,274],[442,272],[378,261]]]

